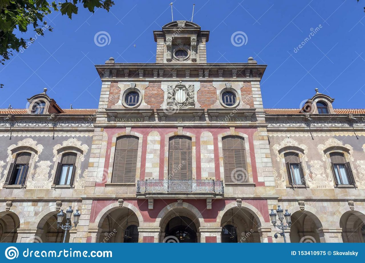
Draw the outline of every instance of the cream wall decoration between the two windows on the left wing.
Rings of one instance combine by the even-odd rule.
[[[50,161],[41,161],[37,163],[37,169],[35,171],[35,174],[29,176],[27,188],[51,188],[52,178],[49,178],[49,170],[51,164],[52,163]]]

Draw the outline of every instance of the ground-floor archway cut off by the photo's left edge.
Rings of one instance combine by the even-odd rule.
[[[12,243],[18,238],[18,228],[20,221],[18,216],[13,212],[0,213],[0,242]]]

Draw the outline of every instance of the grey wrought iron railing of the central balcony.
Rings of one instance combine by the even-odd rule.
[[[145,180],[137,182],[137,194],[213,193],[223,194],[223,182],[215,180]]]

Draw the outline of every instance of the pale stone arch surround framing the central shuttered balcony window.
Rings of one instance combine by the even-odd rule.
[[[192,134],[190,132],[187,131],[175,131],[175,132],[169,132],[168,134],[165,135],[165,162],[164,162],[164,178],[168,178],[169,175],[169,140],[171,137],[173,136],[177,136],[177,135],[183,135],[183,136],[188,136],[191,138],[191,160],[192,160],[192,174],[196,174],[196,136],[195,134]]]

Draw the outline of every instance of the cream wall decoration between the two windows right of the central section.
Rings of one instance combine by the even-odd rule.
[[[332,177],[327,176],[324,172],[323,163],[320,160],[312,160],[311,166],[312,178],[308,177],[311,188],[333,188]]]

